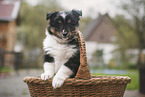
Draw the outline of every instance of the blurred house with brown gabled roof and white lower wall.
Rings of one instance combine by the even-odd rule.
[[[116,48],[112,44],[116,39],[115,33],[117,33],[117,29],[108,14],[99,15],[98,18],[87,25],[84,29],[84,38],[90,65],[108,64],[111,61],[113,58],[112,51]],[[91,61],[94,63],[91,63]]]

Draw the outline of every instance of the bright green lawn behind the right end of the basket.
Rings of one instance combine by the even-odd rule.
[[[92,75],[112,75],[112,76],[129,76],[131,78],[131,83],[127,85],[128,90],[139,89],[139,72],[138,70],[127,70],[127,74],[99,74],[93,73]]]

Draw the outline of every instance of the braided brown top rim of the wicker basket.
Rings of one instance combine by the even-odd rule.
[[[40,77],[25,77],[24,82],[27,84],[34,83],[34,84],[51,84],[52,79],[49,80],[42,80]],[[91,79],[84,80],[84,79],[75,79],[75,78],[68,78],[64,82],[64,85],[97,85],[102,83],[130,83],[131,78],[128,76],[92,76]]]

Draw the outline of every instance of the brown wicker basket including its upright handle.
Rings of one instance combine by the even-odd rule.
[[[52,79],[43,81],[40,77],[26,77],[32,97],[122,97],[129,77],[91,76],[86,60],[85,43],[77,32],[80,45],[80,67],[75,78],[68,78],[62,87],[53,89]]]

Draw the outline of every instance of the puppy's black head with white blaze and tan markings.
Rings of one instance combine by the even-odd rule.
[[[82,11],[80,10],[48,13],[46,19],[50,20],[49,33],[63,41],[73,39],[76,36],[75,31],[78,29],[81,16]]]

